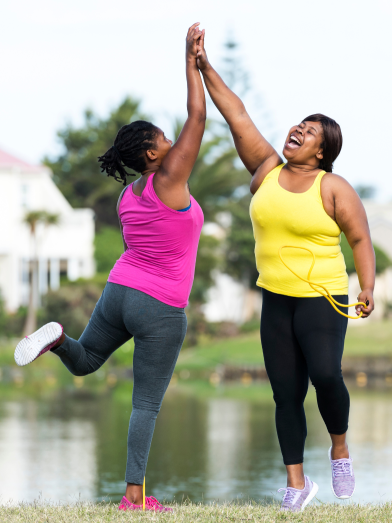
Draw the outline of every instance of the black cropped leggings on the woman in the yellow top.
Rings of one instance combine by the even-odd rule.
[[[348,303],[347,296],[334,298]],[[263,289],[261,344],[285,465],[303,462],[309,377],[328,432],[347,432],[350,396],[341,369],[346,330],[347,318],[322,296],[293,298]]]

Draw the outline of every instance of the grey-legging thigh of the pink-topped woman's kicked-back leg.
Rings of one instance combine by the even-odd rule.
[[[113,288],[119,287],[119,289]],[[132,338],[121,313],[121,286],[109,284],[102,292],[94,312],[79,339],[91,363],[101,366],[109,356]],[[98,368],[97,367],[97,368]]]

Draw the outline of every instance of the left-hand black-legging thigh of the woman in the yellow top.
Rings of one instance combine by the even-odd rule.
[[[304,398],[308,386],[305,358],[293,328],[297,298],[263,289],[261,344],[274,396]]]

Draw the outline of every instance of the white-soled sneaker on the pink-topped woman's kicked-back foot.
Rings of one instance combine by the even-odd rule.
[[[18,343],[15,349],[16,364],[22,367],[36,360],[38,356],[45,354],[61,338],[63,326],[52,321],[47,323],[30,336],[26,336]]]

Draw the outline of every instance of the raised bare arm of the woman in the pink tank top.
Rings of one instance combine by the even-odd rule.
[[[186,38],[186,80],[188,85],[188,118],[178,140],[165,156],[157,172],[160,183],[168,189],[186,186],[203,138],[206,121],[206,100],[203,82],[196,64],[197,41],[203,34],[193,24]]]

